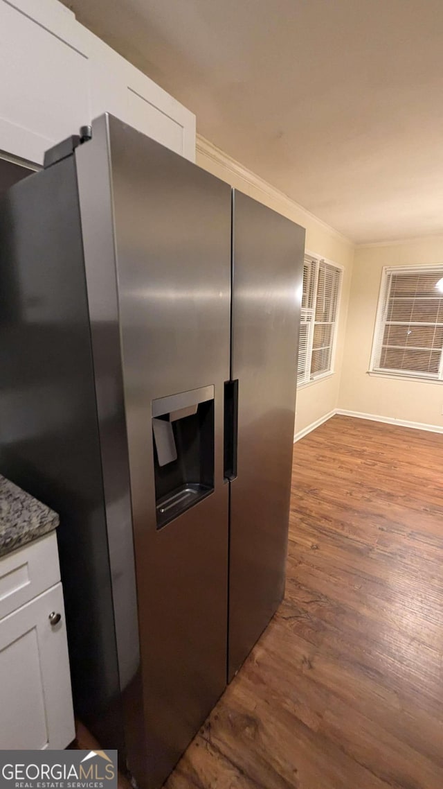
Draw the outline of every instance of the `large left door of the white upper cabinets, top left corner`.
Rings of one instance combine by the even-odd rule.
[[[54,32],[0,0],[0,149],[37,164],[90,122],[88,58],[71,17],[56,11]]]

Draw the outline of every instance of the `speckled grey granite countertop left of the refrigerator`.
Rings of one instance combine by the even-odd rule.
[[[56,529],[58,514],[0,475],[0,556]]]

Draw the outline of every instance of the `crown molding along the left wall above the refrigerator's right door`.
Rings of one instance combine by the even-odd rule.
[[[278,200],[289,210],[293,210],[295,208],[296,211],[298,211],[302,216],[305,216],[311,221],[317,222],[317,224],[320,225],[324,230],[334,237],[340,239],[340,241],[344,242],[344,244],[347,244],[352,248],[355,247],[354,242],[351,241],[350,238],[344,236],[338,230],[335,230],[335,228],[328,225],[327,222],[323,222],[322,219],[318,219],[318,216],[311,214],[311,211],[307,211],[307,208],[303,208],[302,205],[296,203],[295,200],[292,200],[291,197],[286,195],[284,192],[281,192],[280,189],[277,189],[275,186],[271,185],[269,181],[265,181],[264,178],[260,178],[260,176],[253,173],[252,170],[248,170],[248,167],[245,167],[243,164],[240,164],[240,162],[237,162],[236,159],[233,159],[233,157],[229,156],[229,154],[225,153],[225,151],[221,151],[221,148],[217,148],[217,145],[211,143],[201,134],[196,135],[195,148],[198,153],[202,154],[203,156],[207,156],[208,159],[212,159],[213,162],[224,167],[225,170],[228,170],[237,178],[241,178],[242,181],[249,184],[250,186],[253,186],[254,189],[258,189],[262,194],[270,197],[272,200]]]

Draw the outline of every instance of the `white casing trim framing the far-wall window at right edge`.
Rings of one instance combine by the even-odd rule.
[[[426,271],[441,272],[443,278],[443,263],[440,264],[423,264],[422,266],[383,266],[382,277],[380,279],[380,287],[378,289],[378,302],[377,312],[375,313],[374,331],[372,333],[372,348],[370,351],[370,362],[368,374],[370,376],[381,376],[382,378],[397,378],[401,380],[421,380],[426,383],[443,383],[443,351],[441,352],[440,365],[438,368],[437,376],[433,373],[426,375],[426,372],[411,370],[402,371],[398,369],[379,368],[376,366],[378,356],[378,332],[382,329],[383,312],[384,312],[384,295],[386,292],[386,285],[388,278],[391,274],[423,274]],[[441,294],[443,299],[443,294]],[[388,300],[386,300],[388,301]]]

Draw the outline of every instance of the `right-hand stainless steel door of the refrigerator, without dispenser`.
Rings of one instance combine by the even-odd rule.
[[[229,680],[285,589],[304,229],[233,193],[233,338],[238,379],[231,481]]]

